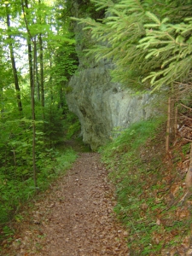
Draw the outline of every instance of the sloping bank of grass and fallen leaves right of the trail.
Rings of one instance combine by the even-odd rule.
[[[101,150],[131,255],[183,255],[189,249],[191,201],[180,201],[185,173],[179,167],[189,143],[167,159],[164,127],[160,119],[136,123]]]

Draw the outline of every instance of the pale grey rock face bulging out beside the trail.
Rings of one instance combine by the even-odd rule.
[[[115,127],[122,130],[153,114],[152,96],[134,96],[131,90],[123,90],[111,81],[110,68],[102,62],[83,69],[68,84],[68,107],[78,115],[83,141],[93,150],[108,141]]]

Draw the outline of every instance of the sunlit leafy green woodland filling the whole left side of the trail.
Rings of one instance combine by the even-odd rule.
[[[24,6],[26,2],[28,7]],[[65,7],[65,3],[62,5]],[[76,154],[66,148],[60,152],[55,147],[63,143],[66,134],[72,137],[79,130],[79,123],[72,114],[68,118],[65,100],[66,82],[77,69],[78,58],[73,35],[67,31],[69,24],[61,24],[59,19],[61,6],[53,7],[46,1],[10,0],[0,3],[0,7],[0,224],[3,226],[14,216],[16,221],[20,220],[15,212],[22,204],[71,166]],[[3,24],[8,21],[8,15],[11,26],[6,28]],[[15,60],[10,59],[8,44]],[[34,54],[37,55],[37,63],[32,63],[30,77],[26,63],[31,54],[32,61]],[[17,106],[19,94],[14,86],[13,61],[17,67],[22,113]],[[23,65],[26,65],[24,70]],[[32,85],[35,85],[34,108]],[[73,125],[69,124],[71,121]],[[38,188],[34,186],[34,169]],[[12,235],[11,232],[5,225],[4,236]]]

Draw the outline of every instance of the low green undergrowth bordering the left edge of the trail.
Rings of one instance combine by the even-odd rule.
[[[50,183],[65,174],[77,158],[77,154],[71,148],[65,151],[62,149],[61,152],[50,148],[42,154],[44,155],[41,156],[41,160],[37,161],[40,170],[37,174],[38,190],[34,187],[32,177],[23,181],[21,178],[4,178],[3,174],[0,176],[0,241],[12,235],[9,221],[18,221],[20,207],[30,204],[35,195],[49,188]]]

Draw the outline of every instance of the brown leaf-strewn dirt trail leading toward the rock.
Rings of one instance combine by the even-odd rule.
[[[113,189],[99,154],[82,153],[36,203],[2,255],[128,256],[126,231],[113,215]]]

